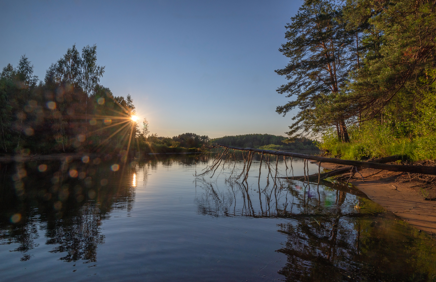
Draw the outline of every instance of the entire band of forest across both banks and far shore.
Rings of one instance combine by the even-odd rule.
[[[292,111],[287,144],[265,134],[214,142],[294,150],[313,147],[312,139],[338,158],[436,158],[433,2],[306,0],[285,28],[279,51],[289,63],[276,73],[288,82],[276,91],[289,102],[276,112]],[[0,74],[3,154],[181,152],[209,141],[194,133],[158,137],[145,119],[133,120],[132,97],[100,84],[105,67],[96,45],[68,48],[41,80],[33,69],[23,55]]]

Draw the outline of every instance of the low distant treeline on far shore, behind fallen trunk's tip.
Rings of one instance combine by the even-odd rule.
[[[269,150],[318,150],[315,141],[308,138],[289,138],[271,134],[245,134],[211,139],[211,143],[244,148]]]

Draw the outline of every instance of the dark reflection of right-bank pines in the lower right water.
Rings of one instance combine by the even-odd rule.
[[[372,203],[364,200],[364,207]],[[417,231],[417,230],[415,230]],[[432,281],[435,257],[427,236],[402,221],[342,217],[279,224],[287,241],[279,271],[287,281]]]

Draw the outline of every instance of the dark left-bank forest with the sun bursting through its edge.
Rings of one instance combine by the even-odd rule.
[[[142,128],[130,95],[114,96],[102,86],[105,67],[97,64],[97,46],[68,48],[51,64],[44,79],[34,76],[25,55],[0,75],[0,152],[50,154],[91,152],[125,156],[127,151],[197,151],[208,136],[185,133],[173,138]],[[191,149],[190,149],[191,148]]]

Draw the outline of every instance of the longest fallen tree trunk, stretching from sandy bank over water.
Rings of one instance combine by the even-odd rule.
[[[222,144],[218,144],[218,146],[225,147],[228,149],[233,149],[233,150],[239,150],[239,151],[252,151],[261,154],[263,153],[263,154],[271,154],[271,155],[279,155],[279,156],[288,156],[293,158],[303,158],[303,159],[314,160],[318,162],[331,162],[335,164],[351,165],[361,168],[383,169],[392,172],[409,172],[409,173],[436,175],[436,166],[389,165],[389,164],[381,164],[377,162],[360,162],[360,161],[351,161],[351,160],[341,160],[339,158],[325,158],[325,157],[318,157],[313,155],[305,155],[305,154],[290,153],[290,152],[283,152],[283,151],[262,150],[262,149],[254,149],[254,148],[240,148],[240,147],[226,146]]]

